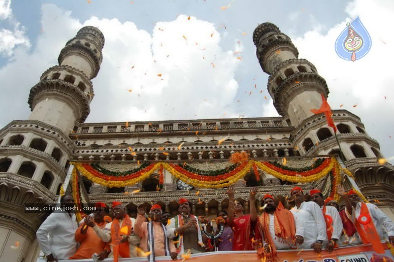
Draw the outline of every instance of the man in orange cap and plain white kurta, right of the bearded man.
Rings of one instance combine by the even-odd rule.
[[[291,191],[296,205],[290,210],[296,221],[296,244],[299,248],[313,248],[322,252],[322,243],[327,239],[326,222],[320,206],[313,201],[304,201],[300,187]]]

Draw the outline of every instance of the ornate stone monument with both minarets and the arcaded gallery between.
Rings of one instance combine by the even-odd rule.
[[[281,117],[85,124],[94,97],[91,79],[99,72],[104,36],[94,27],[82,28],[60,52],[59,66],[46,70],[31,89],[29,120],[15,120],[0,130],[0,243],[8,247],[19,241],[21,245],[17,251],[2,248],[0,260],[34,261],[37,257],[35,231],[45,214],[27,214],[23,204],[56,201],[71,161],[97,163],[113,172],[159,161],[209,171],[228,167],[230,155],[239,151],[261,161],[286,157],[293,167],[339,154],[324,115],[310,112],[320,107],[320,94],[327,98],[329,93],[316,67],[298,59],[290,37],[273,24],[259,25],[253,41],[259,63],[270,75],[268,92]],[[394,168],[378,163],[382,158],[379,143],[351,112],[333,110],[332,118],[338,128],[343,166],[355,174],[362,193],[379,201],[394,218]],[[258,175],[259,184],[253,170],[234,184],[246,212],[249,187],[259,185],[258,198],[265,193],[288,196],[293,187],[261,170]],[[328,195],[330,179],[302,187],[320,188]],[[125,188],[106,188],[83,178],[89,193],[86,200],[123,201],[131,216],[136,215],[138,205],[156,201],[175,214],[180,197],[190,199],[197,215],[214,217],[228,207],[226,189],[182,187],[166,170],[160,191],[156,191],[158,183],[158,173]],[[136,190],[140,192],[132,194]],[[260,206],[260,201],[255,204]]]

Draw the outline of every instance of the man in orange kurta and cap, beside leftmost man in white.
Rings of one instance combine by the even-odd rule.
[[[103,229],[107,222],[104,216],[108,214],[108,207],[106,204],[98,202],[95,204],[96,212],[92,216],[86,216],[85,220],[80,224],[75,231],[75,241],[80,243],[77,252],[69,259],[91,259],[93,254],[98,254],[98,259],[103,260],[108,257],[109,245],[102,241],[93,227],[97,225]],[[109,218],[109,217],[108,217]]]

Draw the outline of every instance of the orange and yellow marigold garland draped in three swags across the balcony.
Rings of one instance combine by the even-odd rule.
[[[336,193],[337,185],[340,184],[340,170],[348,173],[349,171],[345,168],[341,168],[335,158],[326,158],[319,161],[320,164],[314,169],[301,169],[302,171],[286,170],[278,167],[275,164],[267,162],[257,162],[254,160],[243,161],[239,165],[234,165],[234,168],[230,168],[228,172],[218,172],[217,175],[212,176],[212,173],[200,174],[195,173],[187,168],[184,168],[178,164],[168,164],[159,162],[156,164],[147,164],[146,167],[130,174],[119,175],[106,175],[99,170],[96,170],[91,164],[87,163],[71,163],[74,164],[75,168],[78,169],[81,175],[85,176],[89,180],[98,183],[106,187],[125,187],[136,184],[153,174],[159,169],[160,181],[159,184],[163,184],[164,175],[163,170],[166,169],[174,177],[187,182],[188,184],[200,187],[200,188],[223,188],[228,187],[235,183],[238,179],[242,179],[246,174],[253,171],[256,175],[257,168],[260,168],[263,172],[273,175],[281,180],[296,182],[296,183],[310,183],[328,175],[328,172],[332,172],[332,189],[330,196],[334,199],[339,198]],[[238,162],[239,163],[239,162]],[[222,171],[222,170],[220,170]],[[257,172],[258,173],[258,172]],[[350,172],[349,172],[350,173]],[[260,178],[260,177],[259,177]],[[256,177],[257,179],[257,177]],[[259,180],[259,179],[257,179]]]

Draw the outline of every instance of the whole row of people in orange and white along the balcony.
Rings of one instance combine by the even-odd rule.
[[[341,206],[330,197],[324,199],[319,190],[306,195],[295,187],[289,199],[266,194],[260,216],[254,204],[256,193],[256,188],[250,191],[250,214],[245,215],[230,187],[229,208],[219,211],[216,227],[207,218],[191,214],[185,198],[179,199],[179,214],[172,218],[159,204],[150,208],[149,216],[144,207],[138,207],[134,219],[122,202],[112,202],[110,209],[98,202],[96,212],[79,226],[73,212],[52,213],[37,230],[37,240],[51,262],[132,257],[155,261],[158,256],[177,260],[185,253],[237,250],[257,250],[269,258],[278,249],[312,248],[321,253],[341,245],[371,244],[381,252],[382,240],[394,244],[393,221],[376,205],[362,202],[353,190],[345,193],[338,187]],[[66,195],[61,204],[74,204],[74,200]]]

